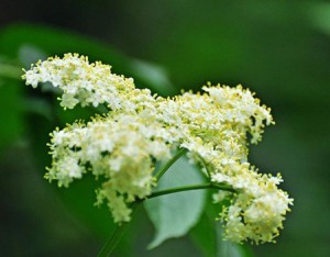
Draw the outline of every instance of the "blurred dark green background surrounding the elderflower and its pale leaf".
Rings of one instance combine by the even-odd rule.
[[[69,190],[43,179],[48,133],[89,111],[62,112],[20,80],[36,59],[77,52],[163,96],[207,81],[256,91],[276,125],[251,161],[280,171],[295,205],[277,244],[245,256],[329,256],[329,43],[327,1],[0,1],[0,255],[95,256],[113,228],[89,178]],[[153,227],[140,210],[116,256],[221,256],[197,242],[213,233],[205,227],[146,250]]]

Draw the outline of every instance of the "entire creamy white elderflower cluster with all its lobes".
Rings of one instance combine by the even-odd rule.
[[[102,177],[97,202],[108,202],[116,222],[130,221],[130,204],[152,193],[155,163],[170,159],[182,147],[211,183],[235,191],[213,197],[215,202],[230,199],[220,213],[228,239],[258,244],[278,235],[293,199],[277,188],[280,175],[262,175],[248,161],[249,138],[256,144],[264,126],[273,123],[271,110],[249,89],[209,83],[204,92],[164,99],[77,54],[38,62],[23,78],[34,88],[52,82],[62,89],[64,108],[109,108],[103,116],[51,134],[47,178],[67,187],[86,172]]]

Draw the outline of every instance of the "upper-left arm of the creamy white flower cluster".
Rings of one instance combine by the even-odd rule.
[[[106,103],[112,110],[120,108],[121,93],[133,90],[133,79],[111,74],[111,67],[100,62],[89,64],[88,58],[66,54],[38,62],[25,72],[26,85],[36,88],[40,82],[52,82],[63,90],[61,105],[73,109]]]

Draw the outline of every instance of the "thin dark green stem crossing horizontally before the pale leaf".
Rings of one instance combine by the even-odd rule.
[[[229,191],[229,192],[237,192],[237,190],[234,190],[233,188],[231,188],[229,186],[224,186],[224,185],[200,183],[200,185],[190,185],[190,186],[160,190],[160,191],[153,192],[146,199],[156,198],[156,197],[161,197],[161,195],[165,195],[165,194],[169,194],[169,193],[198,190],[198,189],[218,189],[218,190],[223,190],[223,191]]]

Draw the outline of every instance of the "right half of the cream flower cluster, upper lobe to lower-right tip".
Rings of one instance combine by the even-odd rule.
[[[207,93],[186,92],[172,100],[170,108],[166,103],[162,115],[182,131],[182,147],[206,166],[211,181],[238,191],[231,195],[232,204],[220,213],[227,238],[273,242],[293,199],[277,188],[279,175],[261,175],[248,161],[248,134],[251,143],[261,141],[264,126],[273,123],[271,110],[241,86],[202,89]],[[215,198],[221,202],[226,195],[220,192]]]

